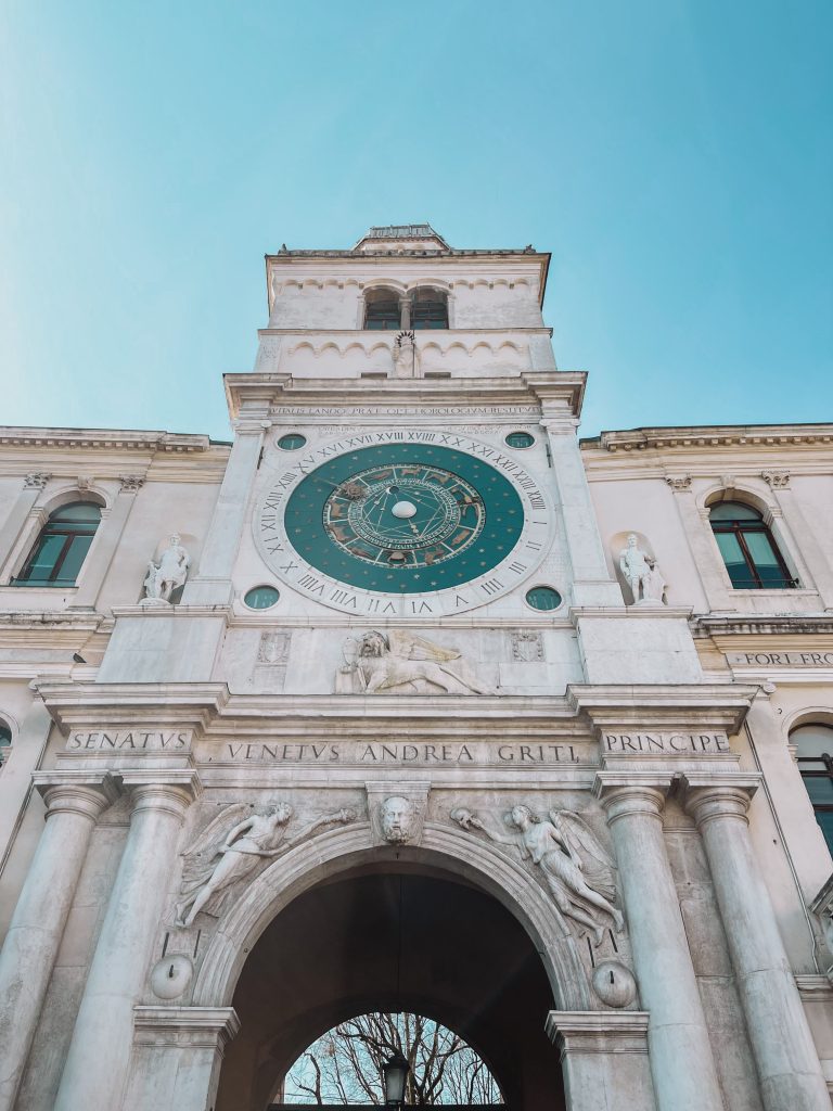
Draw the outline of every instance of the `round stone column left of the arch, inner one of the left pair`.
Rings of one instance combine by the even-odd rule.
[[[133,1041],[133,1007],[164,911],[179,828],[197,772],[124,771],[130,833],[90,964],[54,1111],[117,1111]]]

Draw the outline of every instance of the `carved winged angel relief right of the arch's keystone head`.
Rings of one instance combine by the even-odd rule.
[[[616,933],[624,929],[622,913],[613,905],[615,864],[586,822],[572,810],[551,810],[546,818],[540,818],[529,807],[518,804],[504,815],[506,824],[516,831],[512,833],[488,829],[475,813],[463,808],[452,810],[451,818],[465,830],[482,830],[496,844],[515,845],[524,860],[538,864],[561,913],[592,930],[596,945],[604,937],[600,912],[613,919]]]

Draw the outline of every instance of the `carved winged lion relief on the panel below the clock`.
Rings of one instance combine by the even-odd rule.
[[[350,637],[343,655],[344,667],[337,677],[340,693],[428,694],[432,693],[432,687],[446,694],[495,693],[476,680],[456,649],[441,648],[424,637],[399,629],[392,629],[388,635],[373,630],[358,641]]]

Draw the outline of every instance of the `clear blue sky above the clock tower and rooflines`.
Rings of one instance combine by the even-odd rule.
[[[833,419],[829,0],[7,0],[0,423],[227,439],[263,254],[553,252],[582,434]]]

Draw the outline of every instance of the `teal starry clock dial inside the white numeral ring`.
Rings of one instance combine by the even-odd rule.
[[[515,487],[474,456],[420,443],[339,456],[308,473],[283,527],[305,562],[339,582],[426,593],[478,579],[521,538]]]

